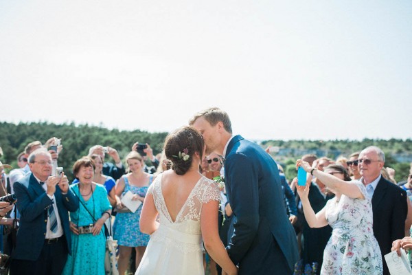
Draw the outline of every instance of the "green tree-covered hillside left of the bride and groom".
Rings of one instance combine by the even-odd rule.
[[[88,124],[76,126],[73,122],[59,125],[47,122],[20,124],[0,122],[0,146],[3,149],[1,162],[18,168],[16,157],[24,151],[28,143],[40,140],[44,144],[50,137],[58,137],[61,138],[63,146],[58,158],[58,165],[64,167],[65,173],[72,179],[71,167],[73,163],[80,157],[87,155],[89,148],[93,145],[111,146],[124,159],[135,142],[147,142],[152,147],[154,154],[160,153],[167,134],[139,130],[108,130]],[[109,156],[107,157],[110,159]]]

